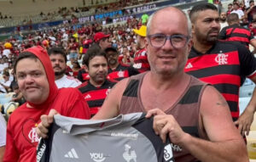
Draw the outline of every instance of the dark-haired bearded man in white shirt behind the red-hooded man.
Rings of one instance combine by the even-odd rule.
[[[61,47],[52,47],[48,50],[49,59],[55,71],[55,84],[61,87],[78,87],[82,84],[72,76],[65,75],[67,69],[67,56]]]

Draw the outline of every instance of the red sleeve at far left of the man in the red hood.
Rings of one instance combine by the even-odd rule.
[[[11,131],[11,117],[9,118],[7,133],[6,133],[6,147],[3,157],[3,162],[17,162],[19,159],[19,153],[17,148],[15,148],[14,135]]]

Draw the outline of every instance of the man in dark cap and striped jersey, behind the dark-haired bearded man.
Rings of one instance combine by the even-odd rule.
[[[137,75],[139,72],[130,65],[119,63],[119,53],[113,47],[105,49],[108,59],[108,78],[121,81],[131,75]]]

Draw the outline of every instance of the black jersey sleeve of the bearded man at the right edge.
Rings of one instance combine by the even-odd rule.
[[[236,44],[238,48],[241,75],[247,77],[253,77],[256,70],[256,59],[247,47]]]

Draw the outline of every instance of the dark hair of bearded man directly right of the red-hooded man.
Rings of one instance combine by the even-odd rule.
[[[84,55],[83,64],[89,68],[90,59],[93,59],[96,56],[102,56],[107,59],[106,53],[102,50],[101,47],[91,46]]]

